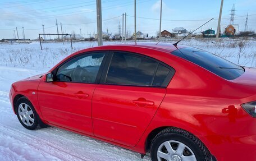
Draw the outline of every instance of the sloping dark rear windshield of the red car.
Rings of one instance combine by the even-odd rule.
[[[234,80],[244,73],[243,67],[197,48],[181,48],[175,50],[172,54],[193,62],[223,79]]]

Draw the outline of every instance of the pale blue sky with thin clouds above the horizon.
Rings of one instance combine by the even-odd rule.
[[[159,0],[137,0],[137,31],[156,36],[159,30]],[[175,27],[184,27],[188,31],[196,29],[208,19],[214,20],[203,27],[203,30],[217,28],[221,0],[163,0],[162,30],[172,31]],[[235,4],[236,16],[234,24],[239,30],[245,27],[246,14],[249,12],[248,29],[256,29],[255,0],[224,0],[221,25],[230,22],[230,10]],[[63,33],[83,36],[97,33],[96,0],[1,0],[0,1],[0,39],[13,38],[16,27],[22,38],[22,26],[25,37],[35,39],[39,33],[57,33],[62,22]],[[127,13],[127,30],[134,32],[134,0],[102,0],[103,31],[118,33],[118,22],[122,26],[122,13]],[[201,29],[200,29],[201,30]],[[199,31],[200,31],[199,30]]]

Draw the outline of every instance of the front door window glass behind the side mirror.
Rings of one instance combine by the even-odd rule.
[[[58,68],[57,81],[94,83],[105,53],[84,54]]]

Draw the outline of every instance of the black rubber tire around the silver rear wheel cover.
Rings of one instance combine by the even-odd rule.
[[[177,135],[181,135],[181,136],[185,136],[186,138],[190,139],[191,141],[194,142],[194,144],[196,145],[196,147],[202,152],[203,154],[203,159],[200,159],[198,161],[212,161],[212,155],[210,153],[210,151],[207,149],[207,147],[203,144],[202,141],[200,141],[198,139],[198,137],[194,136],[193,134],[191,134],[190,132],[188,131],[185,131],[185,130],[182,130],[180,128],[176,128],[176,127],[168,127],[164,130],[162,130],[161,132],[159,132],[155,137],[154,139],[152,140],[152,144],[150,146],[150,157],[152,158],[152,148],[154,146],[154,143],[155,141],[163,136],[163,135],[168,135],[168,134],[177,134]],[[171,139],[171,138],[170,138]],[[158,147],[157,147],[158,148]],[[153,160],[152,158],[152,161],[155,161]],[[156,160],[157,161],[157,160]]]

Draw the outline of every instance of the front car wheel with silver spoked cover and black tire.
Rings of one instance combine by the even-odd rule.
[[[40,118],[28,98],[25,96],[19,98],[16,102],[15,109],[22,126],[29,130],[37,130],[40,128]]]

